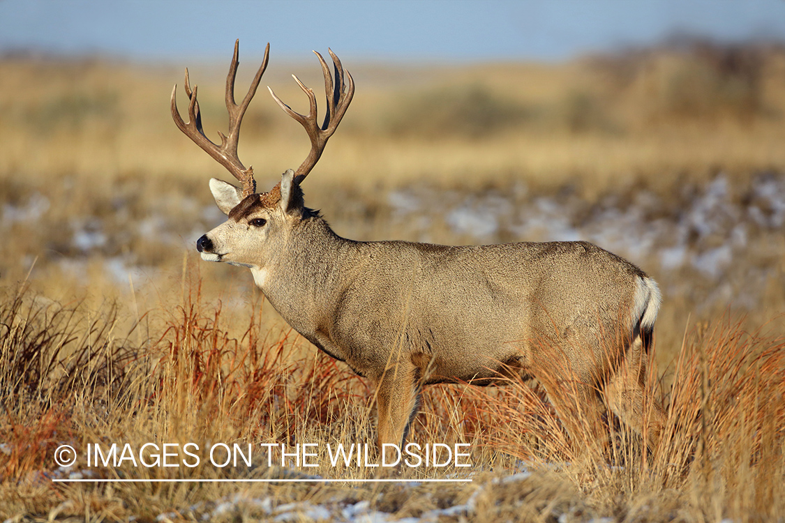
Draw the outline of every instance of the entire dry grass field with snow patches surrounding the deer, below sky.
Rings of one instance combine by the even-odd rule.
[[[224,129],[225,65],[188,66],[207,133]],[[6,56],[0,521],[782,521],[785,52],[692,42],[556,65],[345,67],[357,94],[307,205],[360,240],[586,239],[637,263],[664,296],[658,451],[611,416],[610,455],[585,452],[536,387],[434,386],[410,441],[468,444],[471,467],[281,481],[374,478],[327,449],[373,441],[371,391],[247,271],[199,260],[193,242],[223,220],[206,181],[229,176],[171,122],[181,66]],[[321,85],[316,60],[273,47],[263,82],[302,111],[291,72]],[[239,155],[265,190],[308,141],[257,98]],[[113,442],[148,460],[145,443],[179,445],[181,465],[87,466],[88,445]],[[306,442],[316,467],[260,452]],[[186,443],[251,444],[253,463],[189,467]],[[54,462],[64,444],[71,469]]]

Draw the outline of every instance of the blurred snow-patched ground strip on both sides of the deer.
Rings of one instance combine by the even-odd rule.
[[[190,222],[190,231],[173,232],[172,216],[163,204],[160,213],[144,220],[120,220],[119,216],[119,222],[111,227],[123,229],[111,234],[108,223],[95,217],[72,217],[68,222],[70,237],[63,238],[56,249],[61,254],[61,270],[87,281],[93,273],[87,270],[86,260],[100,259],[104,260],[106,276],[119,285],[128,285],[129,275],[137,285],[145,275],[157,274],[154,267],[138,265],[138,257],[127,249],[118,250],[117,244],[141,238],[192,248],[196,238],[223,220],[215,205],[202,208],[195,200],[181,200],[178,205],[184,206],[189,216],[196,216]],[[49,200],[38,193],[27,202],[0,206],[0,232],[14,223],[44,220],[49,207]],[[608,194],[592,205],[568,188],[556,194],[530,194],[522,182],[484,191],[417,184],[389,192],[386,207],[391,230],[403,231],[406,238],[416,241],[487,244],[586,240],[647,271],[658,267],[666,272],[691,271],[705,281],[721,282],[747,252],[756,252],[756,248],[762,252],[769,247],[766,234],[781,233],[785,227],[785,176],[759,173],[747,183],[736,181],[734,186],[727,176],[719,174],[703,186],[682,187],[681,194],[673,198],[641,189],[632,194]],[[96,258],[95,254],[101,256]],[[765,274],[761,271],[766,270],[750,268],[750,278],[763,281]]]

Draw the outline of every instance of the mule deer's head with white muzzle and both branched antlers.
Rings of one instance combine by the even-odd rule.
[[[335,82],[333,82],[327,63],[319,53],[314,51],[322,66],[324,87],[327,93],[327,114],[321,126],[316,122],[316,96],[314,96],[312,89],[306,87],[299,78],[293,75],[295,82],[309,97],[308,114],[299,114],[293,111],[270,89],[273,99],[283,111],[305,128],[311,140],[311,151],[296,171],[287,170],[286,173],[283,173],[280,183],[272,187],[270,191],[257,193],[254,169],[251,167],[246,169],[243,162],[240,162],[237,156],[237,142],[243,115],[256,93],[261,76],[267,67],[270,45],[267,45],[261,67],[254,76],[248,93],[239,105],[235,104],[234,98],[235,76],[239,64],[238,48],[239,40],[235,42],[232,64],[229,66],[229,73],[226,77],[225,98],[229,114],[229,133],[228,135],[218,133],[221,137],[220,145],[212,142],[204,134],[202,118],[199,114],[199,103],[196,100],[196,86],[194,85],[194,88],[191,89],[188,69],[185,70],[188,122],[183,121],[177,110],[175,100],[177,85],[172,91],[171,110],[177,128],[228,169],[229,173],[232,173],[232,176],[235,176],[242,184],[241,187],[235,187],[231,183],[216,178],[210,180],[210,191],[213,193],[218,208],[228,216],[228,220],[199,238],[196,248],[202,253],[203,260],[225,261],[261,271],[265,267],[265,252],[279,252],[280,249],[283,249],[283,245],[279,244],[287,237],[286,231],[290,231],[298,220],[302,220],[305,215],[309,214],[303,206],[299,185],[319,161],[327,140],[338,128],[338,124],[349,107],[352,96],[354,96],[354,81],[349,71],[344,71],[338,56],[335,56],[330,50],[335,71]],[[262,246],[266,246],[266,248],[262,248]],[[254,272],[254,277],[256,276],[257,272]]]

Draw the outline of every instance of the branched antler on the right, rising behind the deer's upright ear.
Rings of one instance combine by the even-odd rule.
[[[272,89],[269,87],[267,88],[270,90],[272,97],[278,102],[278,105],[281,106],[281,109],[305,127],[305,132],[308,133],[308,136],[311,139],[311,151],[309,152],[308,157],[305,158],[305,161],[302,162],[294,173],[295,183],[300,183],[302,180],[305,180],[305,176],[308,176],[308,173],[311,172],[311,169],[316,165],[316,162],[319,162],[319,158],[324,151],[324,146],[327,145],[327,140],[330,139],[330,136],[333,136],[335,129],[338,129],[338,124],[341,123],[341,118],[343,118],[349,104],[352,103],[352,96],[354,96],[354,80],[352,79],[352,75],[349,74],[349,71],[344,71],[341,66],[341,60],[338,60],[338,56],[335,56],[332,49],[327,50],[330,52],[335,67],[335,85],[333,85],[333,78],[330,76],[330,67],[327,66],[322,55],[316,53],[316,51],[313,52],[319,58],[319,63],[322,64],[324,90],[327,93],[327,114],[324,115],[324,123],[321,127],[316,123],[316,96],[313,95],[312,89],[309,89],[305,84],[300,82],[300,78],[292,74],[294,81],[300,85],[300,89],[308,95],[311,104],[308,114],[299,114],[292,111],[291,107],[284,104],[280,98],[276,96],[276,93],[272,92]]]

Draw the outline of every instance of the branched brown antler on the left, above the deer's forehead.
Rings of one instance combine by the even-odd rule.
[[[265,60],[262,61],[256,76],[254,76],[254,81],[250,84],[248,93],[246,93],[245,98],[239,105],[235,104],[235,76],[237,75],[237,65],[239,64],[238,48],[239,40],[235,41],[235,54],[232,56],[232,64],[229,66],[229,74],[226,76],[226,110],[229,113],[229,135],[225,136],[224,133],[218,131],[218,135],[221,136],[221,145],[213,143],[204,134],[202,116],[199,114],[199,103],[196,101],[196,85],[194,85],[192,90],[188,82],[188,69],[185,70],[185,94],[188,95],[188,123],[183,122],[180,111],[177,110],[177,101],[175,100],[177,85],[172,89],[172,118],[174,118],[174,123],[178,129],[193,140],[196,145],[202,147],[218,163],[228,169],[232,176],[243,183],[243,198],[245,198],[249,194],[256,192],[256,181],[254,180],[254,168],[248,167],[246,169],[237,156],[237,140],[239,140],[240,124],[243,122],[243,115],[248,108],[248,104],[250,104],[251,98],[256,94],[261,75],[265,73],[267,68],[270,44],[267,44],[265,48]]]

